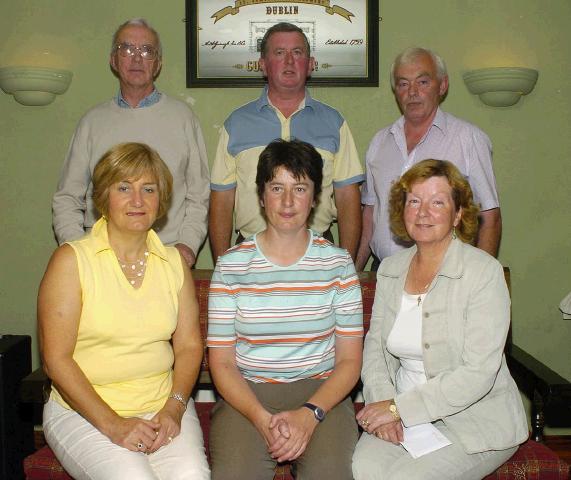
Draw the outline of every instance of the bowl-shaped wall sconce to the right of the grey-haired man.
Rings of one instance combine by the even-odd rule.
[[[464,83],[470,93],[491,107],[515,105],[535,87],[539,72],[531,68],[493,67],[466,72]]]

